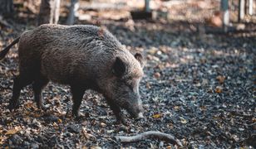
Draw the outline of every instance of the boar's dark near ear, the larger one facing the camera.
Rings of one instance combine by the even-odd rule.
[[[126,72],[126,64],[119,57],[116,57],[116,61],[112,67],[112,72],[117,77],[121,77]]]

